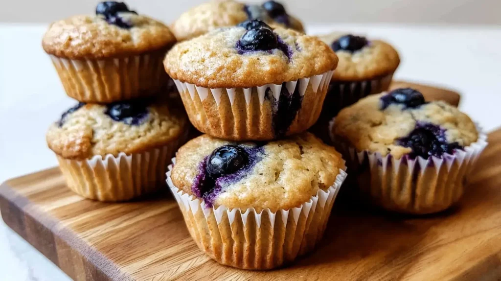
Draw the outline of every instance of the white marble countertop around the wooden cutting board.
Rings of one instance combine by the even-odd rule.
[[[395,79],[456,89],[462,93],[460,108],[485,129],[501,125],[501,28],[336,25],[309,30],[333,28],[387,40],[402,58]],[[45,132],[75,104],[42,50],[45,29],[0,24],[0,182],[57,165]],[[0,222],[0,280],[68,279]]]

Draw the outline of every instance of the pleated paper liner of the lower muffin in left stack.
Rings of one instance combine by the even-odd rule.
[[[99,201],[126,201],[165,186],[170,158],[185,138],[186,134],[141,153],[95,155],[87,160],[57,158],[67,185],[74,192]]]

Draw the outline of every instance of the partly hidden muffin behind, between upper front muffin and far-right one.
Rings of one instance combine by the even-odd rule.
[[[332,33],[320,38],[336,52],[339,64],[329,84],[321,120],[327,122],[359,99],[388,90],[400,59],[395,49],[379,40]]]

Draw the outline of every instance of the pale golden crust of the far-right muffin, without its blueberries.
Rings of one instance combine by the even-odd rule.
[[[415,109],[403,109],[391,104],[381,110],[381,97],[386,93],[369,96],[347,107],[335,118],[332,134],[336,141],[347,141],[357,151],[391,153],[396,159],[411,152],[411,148],[397,144],[416,127],[418,122],[431,123],[445,129],[449,143],[468,146],[478,138],[475,124],[457,108],[433,101]]]

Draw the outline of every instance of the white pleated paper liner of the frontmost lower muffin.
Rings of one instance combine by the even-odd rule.
[[[198,247],[221,264],[243,269],[275,268],[312,250],[323,236],[346,178],[345,167],[332,186],[319,190],[301,206],[258,212],[255,208],[206,207],[203,200],[174,186],[172,165],[168,169],[167,184]]]

